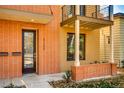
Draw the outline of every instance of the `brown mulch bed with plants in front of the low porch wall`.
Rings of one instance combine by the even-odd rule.
[[[49,84],[54,88],[124,88],[124,75],[82,82],[70,81],[69,83],[66,80],[58,80],[51,81]]]

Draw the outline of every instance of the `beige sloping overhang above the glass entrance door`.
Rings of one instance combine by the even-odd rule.
[[[0,8],[0,19],[47,24],[53,15]]]

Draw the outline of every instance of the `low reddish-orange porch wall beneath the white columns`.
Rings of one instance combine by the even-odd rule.
[[[116,64],[111,63],[72,66],[72,79],[76,81],[87,78],[116,74],[117,74]]]

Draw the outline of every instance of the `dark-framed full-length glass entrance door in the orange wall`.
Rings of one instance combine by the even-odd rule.
[[[36,31],[22,30],[22,72],[36,72]]]

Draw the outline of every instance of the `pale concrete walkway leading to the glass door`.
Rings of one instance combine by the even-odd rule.
[[[0,87],[2,88],[13,82],[16,86],[26,85],[27,88],[52,88],[48,82],[62,80],[63,74],[64,73],[49,75],[25,74],[21,78],[1,79]]]

